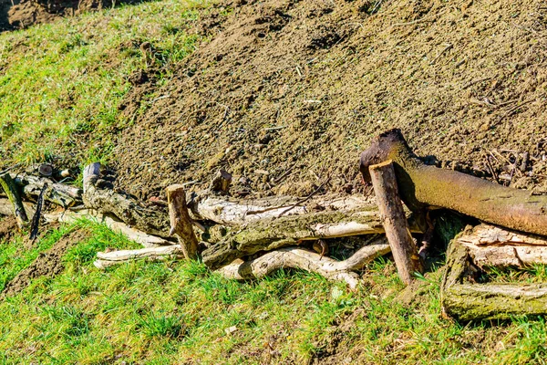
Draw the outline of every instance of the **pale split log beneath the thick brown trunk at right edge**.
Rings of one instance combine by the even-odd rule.
[[[458,242],[468,247],[473,262],[483,270],[489,266],[547,264],[547,237],[541,235],[480,224],[460,235]]]

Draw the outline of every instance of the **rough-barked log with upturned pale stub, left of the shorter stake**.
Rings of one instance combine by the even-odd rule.
[[[100,176],[100,163],[91,163],[84,169],[83,201],[89,209],[104,214],[114,214],[125,224],[150,235],[169,236],[167,214],[143,206],[129,195],[114,193],[96,186]]]

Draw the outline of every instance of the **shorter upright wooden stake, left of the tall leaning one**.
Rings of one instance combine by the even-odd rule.
[[[167,187],[167,202],[169,205],[170,235],[177,235],[181,244],[184,257],[197,258],[198,238],[196,237],[188,207],[186,206],[186,193],[183,185],[170,185]]]

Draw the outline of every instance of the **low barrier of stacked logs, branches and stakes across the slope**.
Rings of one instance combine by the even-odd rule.
[[[67,222],[91,216],[145,245],[140,250],[98,253],[95,265],[99,268],[132,259],[200,257],[212,270],[238,280],[295,267],[344,281],[355,289],[359,271],[366,263],[388,252],[394,256],[405,284],[413,280],[415,273],[422,273],[431,238],[428,212],[445,208],[498,224],[480,224],[452,241],[442,286],[445,311],[466,320],[505,318],[515,312],[504,302],[508,296],[516,302],[524,298],[527,303],[535,296],[533,308],[529,306],[532,309],[525,305],[515,308],[519,313],[547,312],[542,285],[532,291],[519,289],[521,297],[514,297],[511,287],[465,284],[469,270],[461,269],[469,268],[470,262],[471,268],[480,270],[547,264],[547,196],[532,196],[460,172],[426,166],[408,148],[399,130],[380,134],[361,155],[360,170],[364,180],[374,186],[376,205],[355,195],[234,199],[230,196],[232,176],[222,171],[215,175],[209,189],[188,196],[183,185],[169,186],[168,215],[129,195],[101,187],[100,169],[98,163],[86,167],[83,192],[45,178],[7,174],[3,186],[10,179],[18,185],[4,187],[9,198],[0,197],[0,214],[15,214],[24,225],[27,219],[23,214],[36,210],[24,201],[36,201],[36,188],[27,187],[32,182],[46,186],[42,193],[48,191],[44,197],[48,202],[65,207],[81,202],[85,208],[46,213],[43,221]],[[405,211],[401,200],[412,214]],[[325,256],[328,240],[355,235],[362,237],[363,244],[355,248],[353,255],[343,260]],[[423,235],[426,244],[420,247],[421,255],[412,235]],[[320,247],[317,252],[316,247]],[[464,262],[467,266],[462,266]],[[470,301],[470,293],[480,297],[482,303],[486,301],[488,313],[478,309],[478,301]],[[466,312],[466,308],[472,310]]]

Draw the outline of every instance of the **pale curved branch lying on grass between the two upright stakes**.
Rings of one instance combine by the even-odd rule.
[[[247,262],[239,260],[239,262],[224,266],[217,271],[227,278],[246,280],[267,276],[282,267],[302,268],[325,276],[329,280],[345,281],[350,288],[355,289],[359,282],[359,276],[347,270],[333,268],[335,263],[335,260],[328,257],[321,258],[315,252],[298,247],[284,247]]]

